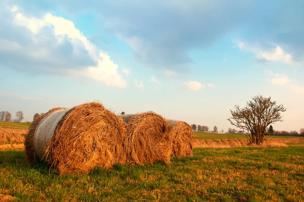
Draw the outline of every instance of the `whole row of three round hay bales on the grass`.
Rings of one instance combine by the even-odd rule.
[[[53,108],[34,119],[25,136],[30,164],[48,162],[59,174],[89,173],[116,163],[170,163],[193,155],[193,131],[154,112],[117,116],[100,103]]]

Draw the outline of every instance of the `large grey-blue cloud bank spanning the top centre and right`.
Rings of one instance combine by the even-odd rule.
[[[302,1],[113,1],[47,0],[27,4],[21,0],[4,0],[22,5],[30,13],[56,12],[64,8],[69,14],[94,13],[96,20],[113,35],[125,40],[133,49],[136,61],[155,69],[188,72],[194,63],[192,50],[206,50],[223,36],[238,32],[250,37],[251,44],[261,44],[264,60],[290,62],[304,59],[304,13]],[[98,9],[97,9],[98,8]],[[157,15],[155,15],[157,13]],[[267,19],[267,20],[265,20]],[[249,33],[249,34],[248,34]],[[234,35],[235,36],[235,35]],[[269,42],[280,49],[271,51]],[[239,43],[241,49],[245,43]],[[257,53],[258,54],[258,53]]]

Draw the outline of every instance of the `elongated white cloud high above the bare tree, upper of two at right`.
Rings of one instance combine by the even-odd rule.
[[[284,52],[284,50],[276,45],[276,48],[272,50],[262,50],[259,46],[254,46],[240,40],[232,40],[233,43],[241,50],[250,51],[255,54],[258,59],[264,59],[268,61],[279,61],[286,64],[292,64],[292,55]],[[235,47],[235,46],[233,46]]]

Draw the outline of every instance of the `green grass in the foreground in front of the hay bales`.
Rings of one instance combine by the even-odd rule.
[[[57,176],[23,152],[0,152],[0,193],[20,201],[300,201],[304,147],[197,148],[171,165],[117,165]]]

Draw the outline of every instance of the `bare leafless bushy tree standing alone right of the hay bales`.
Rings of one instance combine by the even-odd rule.
[[[277,105],[271,97],[257,95],[247,102],[244,109],[235,106],[235,111],[230,110],[232,117],[228,120],[240,131],[248,134],[250,143],[259,145],[263,142],[266,127],[271,123],[283,121],[281,112],[285,112],[283,105]]]

